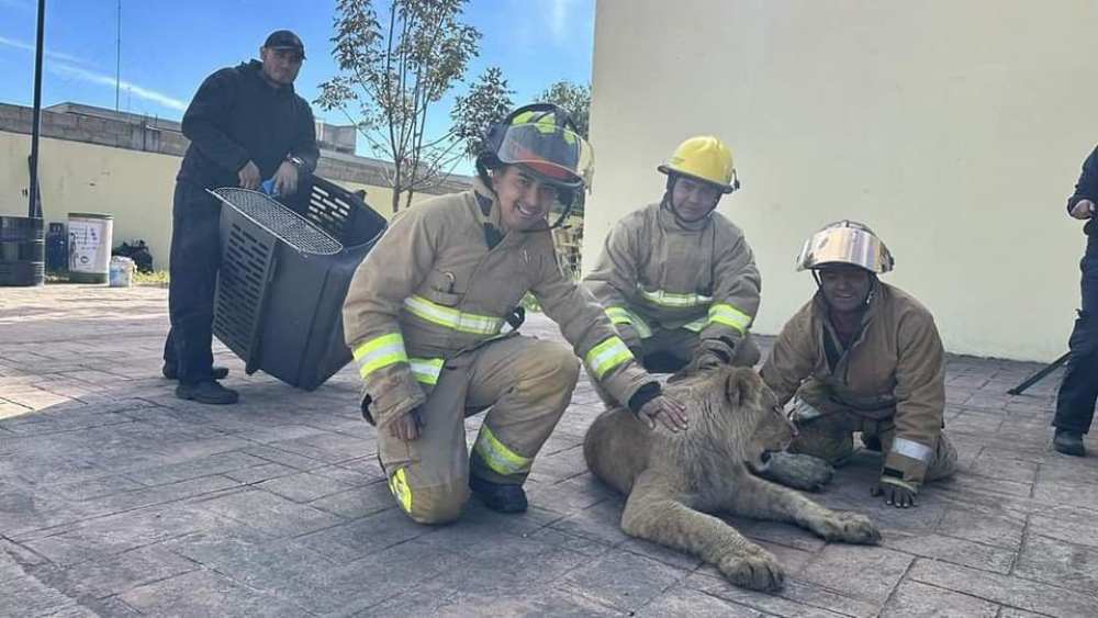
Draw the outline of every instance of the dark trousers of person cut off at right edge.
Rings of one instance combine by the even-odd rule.
[[[1083,308],[1075,321],[1068,346],[1072,355],[1056,395],[1053,426],[1086,434],[1098,400],[1098,234],[1087,237],[1083,270]]]

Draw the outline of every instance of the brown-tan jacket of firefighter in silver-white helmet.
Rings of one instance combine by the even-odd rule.
[[[838,344],[827,316],[817,293],[782,328],[763,364],[763,380],[783,405],[811,378],[827,387],[831,407],[890,419],[896,437],[885,453],[884,476],[918,487],[945,408],[945,352],[933,316],[907,293],[879,281],[849,349]]]

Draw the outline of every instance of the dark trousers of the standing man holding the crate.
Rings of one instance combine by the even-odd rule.
[[[211,379],[213,297],[221,266],[221,202],[201,187],[176,182],[171,209],[171,265],[168,313],[171,329],[164,360],[179,381]]]

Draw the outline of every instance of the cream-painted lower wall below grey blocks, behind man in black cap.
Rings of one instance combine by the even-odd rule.
[[[38,147],[47,222],[66,221],[70,212],[114,215],[114,246],[143,238],[156,268],[168,267],[171,193],[180,157],[52,138],[41,139]],[[26,215],[23,191],[30,149],[29,135],[0,132],[0,214]],[[390,189],[341,180],[338,184],[350,191],[365,189],[367,201],[383,216],[391,216]],[[413,196],[413,203],[429,196]]]

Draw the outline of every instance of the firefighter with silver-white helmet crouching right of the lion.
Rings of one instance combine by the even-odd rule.
[[[945,352],[933,316],[907,293],[882,283],[893,257],[852,221],[809,238],[797,270],[811,270],[816,295],[782,328],[762,377],[785,404],[794,395],[799,436],[789,447],[839,465],[853,432],[884,453],[873,495],[915,506],[923,483],[953,474],[956,449],[942,431]],[[797,485],[798,456],[774,457],[769,474]]]

